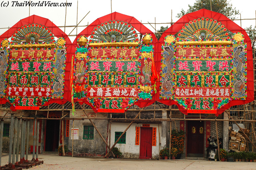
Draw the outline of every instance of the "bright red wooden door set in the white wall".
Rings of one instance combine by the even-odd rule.
[[[152,158],[152,128],[140,127],[140,159]]]

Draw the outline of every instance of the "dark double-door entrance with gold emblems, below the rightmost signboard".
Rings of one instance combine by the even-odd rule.
[[[187,157],[204,157],[204,121],[187,121]]]

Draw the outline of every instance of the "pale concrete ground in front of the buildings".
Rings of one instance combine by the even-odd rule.
[[[29,155],[32,159],[32,154]],[[140,160],[123,158],[93,158],[39,154],[44,164],[28,170],[256,170],[256,162],[214,162],[208,160]],[[2,156],[2,166],[8,163]]]

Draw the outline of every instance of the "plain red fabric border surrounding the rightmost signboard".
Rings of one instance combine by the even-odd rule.
[[[244,35],[244,42],[247,43],[247,98],[246,100],[232,100],[231,102],[229,102],[228,104],[224,105],[224,107],[222,107],[221,109],[219,109],[217,111],[216,116],[220,115],[221,113],[223,113],[226,109],[234,106],[234,105],[244,105],[246,103],[249,103],[251,101],[254,100],[254,77],[253,77],[253,60],[252,60],[252,44],[251,44],[251,40],[248,37],[246,31],[241,28],[240,26],[238,26],[236,23],[234,23],[232,20],[230,20],[229,18],[227,18],[226,16],[224,16],[223,14],[220,14],[218,12],[212,12],[210,10],[206,10],[206,9],[202,9],[202,10],[198,10],[196,12],[192,12],[190,14],[186,14],[184,15],[182,18],[180,18],[180,20],[178,20],[177,22],[175,22],[170,28],[168,28],[168,30],[166,30],[160,40],[158,41],[159,45],[158,48],[156,48],[158,51],[156,51],[156,67],[158,69],[158,71],[160,72],[160,65],[161,65],[161,44],[164,43],[164,38],[169,35],[169,34],[176,34],[177,32],[179,32],[182,29],[182,26],[184,26],[186,23],[188,23],[189,21],[192,21],[194,19],[198,19],[198,18],[213,18],[214,20],[217,20],[218,22],[221,22],[221,24],[223,24],[228,30],[230,30],[233,33],[237,33],[240,32]],[[187,114],[187,111],[180,105],[178,105],[177,102],[173,101],[173,100],[163,100],[163,99],[159,99],[158,101],[160,101],[161,103],[164,103],[166,105],[177,105],[178,108],[180,109],[180,111],[182,111],[182,113]]]

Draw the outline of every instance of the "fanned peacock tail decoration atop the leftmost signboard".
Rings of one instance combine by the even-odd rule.
[[[11,43],[52,43],[52,32],[40,24],[29,24],[18,28],[12,35]]]

